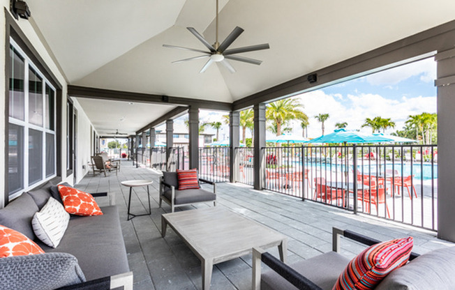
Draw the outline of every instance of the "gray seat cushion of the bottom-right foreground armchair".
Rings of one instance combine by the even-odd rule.
[[[308,280],[324,290],[331,290],[340,273],[346,268],[349,259],[336,252],[327,252],[311,259],[293,264],[291,267]],[[267,271],[261,276],[262,290],[297,290],[290,282],[274,271]]]

